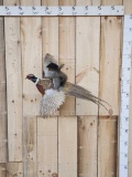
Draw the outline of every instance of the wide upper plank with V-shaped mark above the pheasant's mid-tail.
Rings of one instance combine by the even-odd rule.
[[[98,96],[100,18],[76,19],[76,83]],[[98,115],[98,105],[77,98],[77,115]]]

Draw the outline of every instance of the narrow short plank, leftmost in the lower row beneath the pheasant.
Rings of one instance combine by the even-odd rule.
[[[23,118],[23,165],[24,177],[36,175],[36,117]]]

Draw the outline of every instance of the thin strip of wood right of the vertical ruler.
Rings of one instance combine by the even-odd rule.
[[[132,56],[132,54],[131,54]],[[131,70],[131,85],[130,85],[130,118],[129,118],[129,177],[132,176],[132,70]]]

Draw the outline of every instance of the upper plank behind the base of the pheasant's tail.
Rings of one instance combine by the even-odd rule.
[[[75,0],[59,0],[59,6],[75,6]],[[75,83],[75,17],[59,18],[59,63],[68,81]],[[75,98],[67,97],[61,115],[75,115]]]

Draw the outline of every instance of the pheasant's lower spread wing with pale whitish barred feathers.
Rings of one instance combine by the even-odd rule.
[[[40,114],[52,115],[61,105],[65,102],[66,95],[62,91],[55,91],[53,88],[46,90],[41,101]]]

